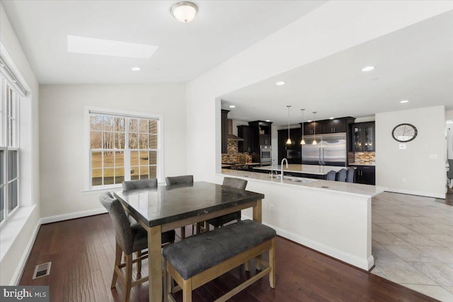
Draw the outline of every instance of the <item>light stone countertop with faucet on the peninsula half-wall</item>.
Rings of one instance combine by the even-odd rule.
[[[299,165],[300,166],[300,165]],[[326,166],[325,166],[326,167]],[[265,168],[265,167],[261,167]],[[335,167],[341,168],[341,167]],[[269,168],[270,169],[270,168]],[[288,170],[290,171],[290,170]],[[297,172],[297,171],[294,171]],[[299,170],[300,172],[300,170]],[[298,181],[292,181],[293,177],[289,176],[289,179],[280,180],[277,179],[275,175],[273,178],[270,177],[268,173],[259,173],[259,172],[250,172],[250,171],[242,171],[242,170],[229,170],[229,169],[222,169],[223,176],[231,176],[237,178],[243,178],[245,180],[258,180],[258,181],[265,181],[265,182],[273,182],[275,184],[282,184],[282,185],[292,185],[301,188],[306,188],[309,190],[322,190],[326,191],[335,191],[340,194],[349,194],[349,195],[356,195],[362,197],[374,197],[377,194],[380,194],[386,190],[386,187],[380,187],[376,185],[362,185],[358,183],[351,183],[351,182],[338,182],[338,181],[331,181],[331,180],[319,180],[314,178],[296,178]],[[285,176],[286,178],[286,176]]]

